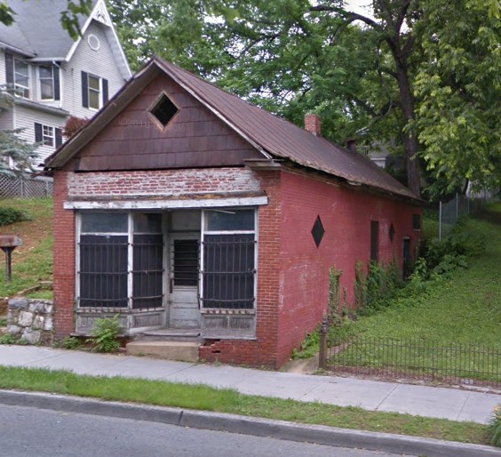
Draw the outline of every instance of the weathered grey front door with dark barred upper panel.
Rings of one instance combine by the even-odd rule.
[[[169,238],[169,326],[200,328],[200,232],[171,234]]]

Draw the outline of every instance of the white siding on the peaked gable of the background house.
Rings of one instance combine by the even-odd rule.
[[[96,114],[95,110],[82,106],[82,71],[107,79],[109,98],[113,97],[115,92],[123,86],[123,77],[115,63],[104,28],[106,26],[93,20],[85,31],[72,59],[63,65],[61,72],[62,108],[74,116],[91,118]],[[87,43],[89,35],[95,35],[99,38],[98,51],[93,51]]]

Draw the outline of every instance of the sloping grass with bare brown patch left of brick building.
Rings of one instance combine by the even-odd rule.
[[[6,283],[4,269],[0,269],[0,297],[8,297],[40,281],[52,280],[52,198],[0,200],[0,206],[24,210],[31,217],[0,227],[2,235],[20,235],[23,241],[12,253],[11,284]],[[52,293],[45,291],[36,296],[51,298]]]

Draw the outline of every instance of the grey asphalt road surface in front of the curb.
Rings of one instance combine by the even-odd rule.
[[[0,407],[0,455],[9,457],[390,457],[394,454],[188,429],[157,422]]]

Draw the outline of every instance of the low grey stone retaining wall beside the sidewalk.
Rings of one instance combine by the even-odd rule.
[[[29,344],[52,344],[52,312],[51,300],[11,299],[7,314],[7,333]]]

